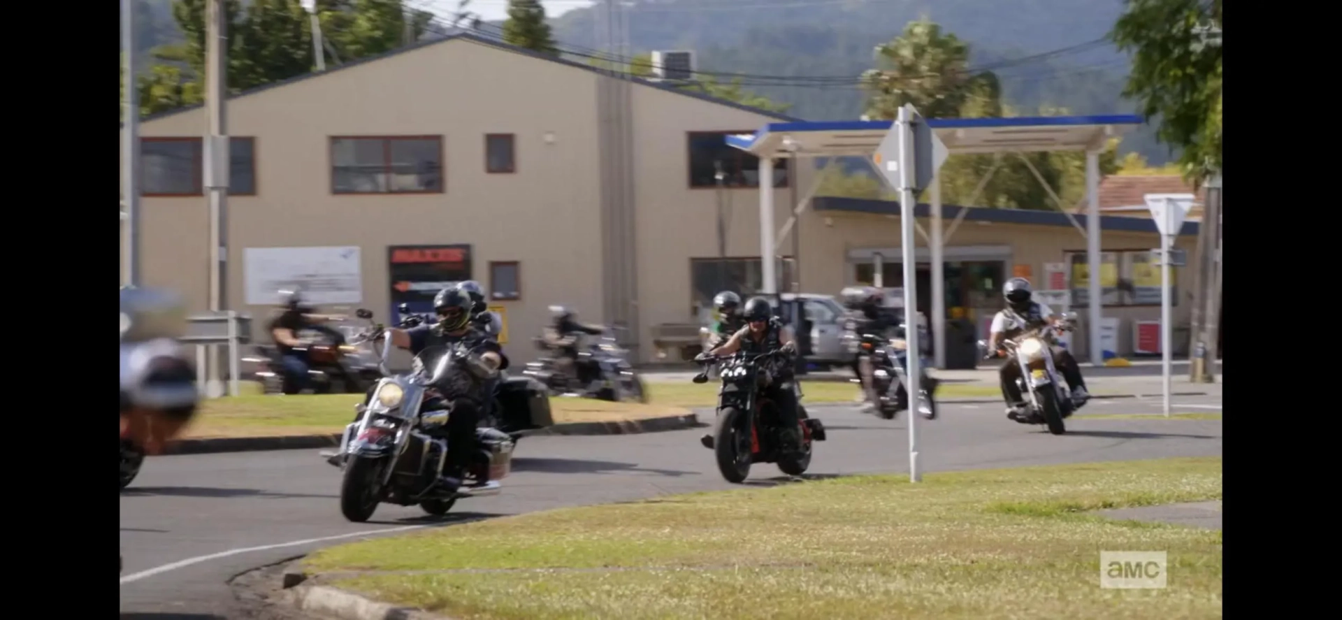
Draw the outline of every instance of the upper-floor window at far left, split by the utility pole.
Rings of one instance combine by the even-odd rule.
[[[201,138],[140,138],[141,196],[201,196],[204,153]],[[256,193],[255,138],[228,140],[228,193]]]

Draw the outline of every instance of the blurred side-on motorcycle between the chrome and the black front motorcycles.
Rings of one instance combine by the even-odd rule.
[[[534,338],[533,341],[541,350],[550,349],[544,338]],[[578,370],[580,377],[586,378],[586,393],[595,399],[612,403],[648,401],[648,392],[644,389],[643,378],[629,365],[628,350],[620,346],[615,337],[603,335],[589,345],[588,350],[580,352],[574,368]],[[592,373],[584,372],[584,369],[595,370],[596,376],[588,377]],[[542,357],[527,362],[526,370],[522,370],[522,374],[545,384],[550,389],[550,393],[556,396],[561,396],[570,389],[569,377],[556,372],[553,357]]]

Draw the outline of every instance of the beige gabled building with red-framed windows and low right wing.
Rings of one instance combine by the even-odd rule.
[[[621,115],[629,132],[612,129]],[[420,303],[437,282],[470,276],[506,315],[518,361],[535,357],[530,337],[552,303],[629,325],[636,356],[650,361],[656,341],[703,318],[719,278],[760,286],[756,161],[723,136],[777,118],[786,119],[471,35],[243,93],[228,101],[229,306],[264,318],[268,295],[299,282],[323,307],[388,317],[399,301]],[[208,299],[205,121],[191,107],[140,125],[142,280],[180,290],[196,310]],[[811,185],[809,165],[798,174],[792,183],[781,165],[776,172],[774,221],[790,215],[794,188]],[[715,259],[719,205],[726,262]],[[837,293],[870,279],[874,252],[898,256],[888,203],[812,207],[794,228],[800,268],[781,270],[784,290]],[[1004,276],[1043,278],[1048,263],[1086,247],[1063,213],[1013,213],[970,209],[947,235],[947,309],[977,319],[1000,302]],[[1103,227],[1104,251],[1157,246],[1149,221],[1106,217]],[[1117,254],[1104,286],[1131,280],[1134,268],[1138,289],[1149,283],[1142,260]],[[887,286],[898,285],[888,275],[896,264],[887,262]],[[1118,289],[1126,305],[1106,315],[1158,317],[1134,305],[1149,295]],[[1176,325],[1186,323],[1185,306]]]

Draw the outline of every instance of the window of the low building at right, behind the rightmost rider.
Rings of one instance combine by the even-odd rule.
[[[1072,307],[1087,307],[1090,299],[1090,264],[1086,252],[1063,252],[1068,267]],[[1099,286],[1104,307],[1159,306],[1161,266],[1149,250],[1115,250],[1099,254]],[[1170,303],[1178,306],[1178,267],[1170,268]]]

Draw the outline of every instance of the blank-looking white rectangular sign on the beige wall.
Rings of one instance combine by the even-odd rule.
[[[364,301],[358,246],[250,247],[243,252],[247,303],[272,305],[283,289],[297,289],[309,303]]]

